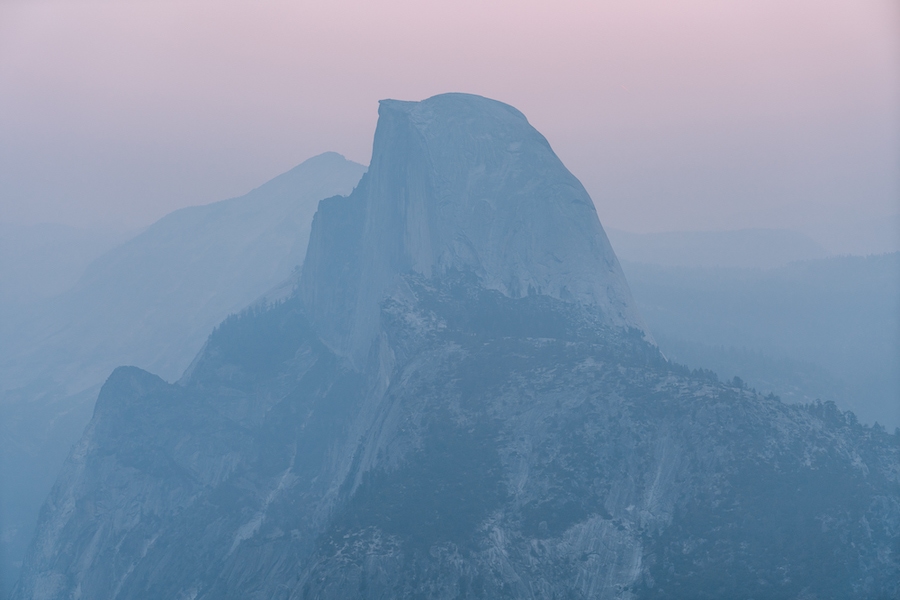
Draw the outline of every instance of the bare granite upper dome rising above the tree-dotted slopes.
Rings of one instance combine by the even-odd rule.
[[[380,302],[408,272],[471,272],[511,298],[546,295],[643,329],[590,197],[511,106],[466,94],[382,101],[372,163],[349,205],[350,228],[346,215],[314,223],[301,294],[326,342],[356,364]],[[335,252],[345,254],[340,273],[356,274],[340,303],[330,294],[347,282],[323,265]]]

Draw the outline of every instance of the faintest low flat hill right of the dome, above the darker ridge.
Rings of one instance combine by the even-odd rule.
[[[668,267],[780,267],[828,252],[809,237],[786,229],[667,231],[607,230],[621,260]]]

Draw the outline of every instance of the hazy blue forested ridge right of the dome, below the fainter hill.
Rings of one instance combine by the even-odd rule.
[[[670,358],[900,426],[900,253],[771,270],[622,264]]]

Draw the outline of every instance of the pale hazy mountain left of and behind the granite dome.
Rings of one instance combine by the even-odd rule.
[[[177,379],[213,327],[302,264],[320,200],[365,167],[311,158],[240,198],[175,211],[0,335],[0,593],[100,384],[121,364]]]

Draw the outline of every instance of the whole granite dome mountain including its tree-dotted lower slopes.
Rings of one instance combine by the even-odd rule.
[[[495,199],[521,224],[465,217],[440,190],[505,190],[511,143],[560,173],[513,109],[391,102],[378,135],[297,294],[227,319],[177,385],[110,377],[17,598],[897,597],[896,436],[668,363],[577,194],[541,205],[522,172]],[[571,239],[544,245],[541,211]],[[545,273],[557,247],[608,269]]]

